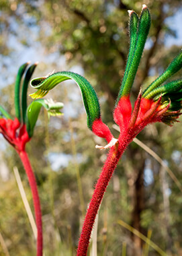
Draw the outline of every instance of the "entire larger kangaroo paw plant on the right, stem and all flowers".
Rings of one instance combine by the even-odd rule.
[[[152,82],[143,93],[140,90],[134,107],[132,107],[130,90],[134,83],[136,71],[150,29],[150,12],[146,5],[143,5],[140,17],[134,11],[129,11],[129,15],[130,50],[122,86],[116,100],[116,107],[113,111],[113,119],[120,126],[118,139],[113,138],[107,125],[101,121],[97,94],[91,84],[81,75],[62,71],[53,73],[47,77],[32,79],[31,82],[32,86],[37,89],[34,94],[31,94],[32,98],[42,98],[49,90],[60,84],[60,82],[73,79],[81,89],[89,129],[97,136],[105,138],[108,143],[105,147],[97,146],[97,148],[110,148],[85,216],[77,256],[87,255],[91,230],[99,205],[101,204],[113,171],[128,144],[146,125],[155,122],[172,125],[177,121],[179,115],[181,115],[182,79],[168,82],[167,84],[163,83],[181,69],[182,51],[173,59],[167,70]]]

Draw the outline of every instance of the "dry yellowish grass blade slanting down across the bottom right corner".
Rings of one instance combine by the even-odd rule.
[[[140,233],[138,230],[136,230],[135,228],[133,228],[132,226],[128,225],[126,222],[124,222],[123,220],[118,220],[118,224],[120,224],[121,226],[123,226],[124,228],[128,229],[130,232],[132,232],[133,234],[135,234],[136,236],[140,237],[140,239],[142,239],[145,243],[147,243],[150,247],[152,247],[152,249],[154,249],[155,251],[157,251],[160,255],[162,256],[167,256],[167,254],[160,248],[158,247],[155,243],[153,243],[152,241],[150,241],[149,238],[147,238],[146,236],[144,236],[144,234]]]

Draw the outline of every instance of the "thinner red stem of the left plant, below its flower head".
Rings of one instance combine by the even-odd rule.
[[[38,188],[36,185],[36,178],[34,176],[34,172],[32,170],[32,166],[28,159],[28,155],[26,151],[18,152],[19,157],[21,158],[21,162],[24,164],[24,168],[26,170],[26,174],[28,176],[28,181],[32,190],[32,196],[34,201],[34,209],[36,215],[36,225],[38,229],[38,237],[37,237],[37,256],[42,256],[42,214],[40,208],[40,199],[38,196]]]

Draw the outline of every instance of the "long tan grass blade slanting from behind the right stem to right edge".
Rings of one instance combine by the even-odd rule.
[[[117,131],[120,131],[120,128],[118,127],[118,125],[113,125],[113,128],[116,129]],[[139,139],[134,138],[133,141],[138,146],[140,146],[143,150],[145,150],[148,154],[150,154],[150,156],[152,156],[157,162],[159,162],[159,164],[161,164],[165,168],[165,170],[167,171],[167,173],[169,174],[171,179],[175,182],[175,184],[177,185],[177,187],[179,188],[179,190],[182,193],[182,185],[181,185],[181,183],[178,181],[177,177],[175,177],[175,174],[167,166],[165,161],[163,161],[163,159],[161,159],[153,150],[150,150],[150,148],[148,148],[148,146],[146,146],[144,143],[142,143],[142,141],[140,141]]]

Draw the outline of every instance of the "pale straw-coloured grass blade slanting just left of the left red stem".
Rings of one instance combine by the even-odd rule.
[[[22,201],[24,203],[24,206],[26,208],[26,212],[28,214],[28,219],[30,221],[30,225],[32,226],[32,230],[33,230],[33,233],[34,233],[34,236],[35,238],[37,238],[37,226],[36,226],[36,222],[34,220],[34,216],[32,214],[32,211],[30,209],[30,205],[28,203],[28,199],[26,197],[26,192],[24,190],[24,187],[23,187],[23,184],[21,182],[21,178],[19,176],[19,171],[17,169],[16,166],[13,167],[13,172],[15,174],[15,179],[16,179],[16,182],[17,182],[17,186],[19,188],[19,192],[21,194],[21,198],[22,198]]]

